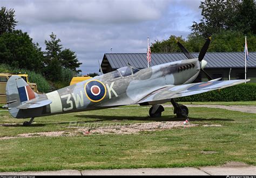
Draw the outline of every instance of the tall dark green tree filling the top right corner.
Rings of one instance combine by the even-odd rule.
[[[256,34],[254,0],[205,0],[199,8],[203,18],[193,22],[191,29],[205,38],[225,30]]]

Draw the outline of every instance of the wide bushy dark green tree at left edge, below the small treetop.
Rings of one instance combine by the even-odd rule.
[[[12,67],[40,72],[43,68],[43,52],[32,38],[21,30],[0,35],[0,62]]]

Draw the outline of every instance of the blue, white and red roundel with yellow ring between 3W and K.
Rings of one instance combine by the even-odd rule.
[[[106,96],[105,85],[98,80],[91,80],[85,84],[85,94],[92,102],[99,102]]]

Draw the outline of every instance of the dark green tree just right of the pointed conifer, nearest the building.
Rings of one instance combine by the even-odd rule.
[[[64,68],[69,68],[76,72],[82,72],[82,70],[77,70],[77,68],[82,65],[82,63],[78,62],[77,55],[75,52],[71,51],[70,49],[64,49],[62,52],[59,53],[61,65]]]

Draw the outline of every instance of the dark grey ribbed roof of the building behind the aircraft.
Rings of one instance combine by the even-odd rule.
[[[198,58],[198,54],[192,53],[195,58]],[[140,69],[147,67],[146,53],[106,53],[104,58],[109,61],[112,69],[127,66],[128,62],[131,66]],[[151,53],[150,66],[184,59],[187,58],[183,53]],[[204,59],[207,61],[206,68],[243,68],[245,66],[244,52],[208,52]],[[247,67],[256,68],[256,52],[249,52]]]

